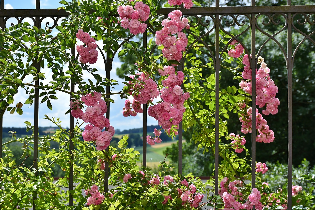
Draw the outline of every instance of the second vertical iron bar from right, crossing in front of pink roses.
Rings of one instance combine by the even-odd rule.
[[[252,6],[255,7],[255,1],[252,1]],[[256,17],[251,14],[252,26],[252,189],[256,187]],[[255,206],[253,207],[255,210]]]

